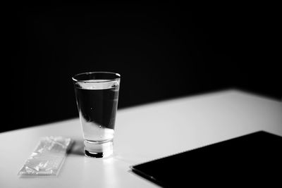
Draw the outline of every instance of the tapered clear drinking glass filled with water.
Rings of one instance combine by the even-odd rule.
[[[85,156],[102,158],[113,153],[114,127],[121,75],[80,73],[72,77],[85,145]]]

